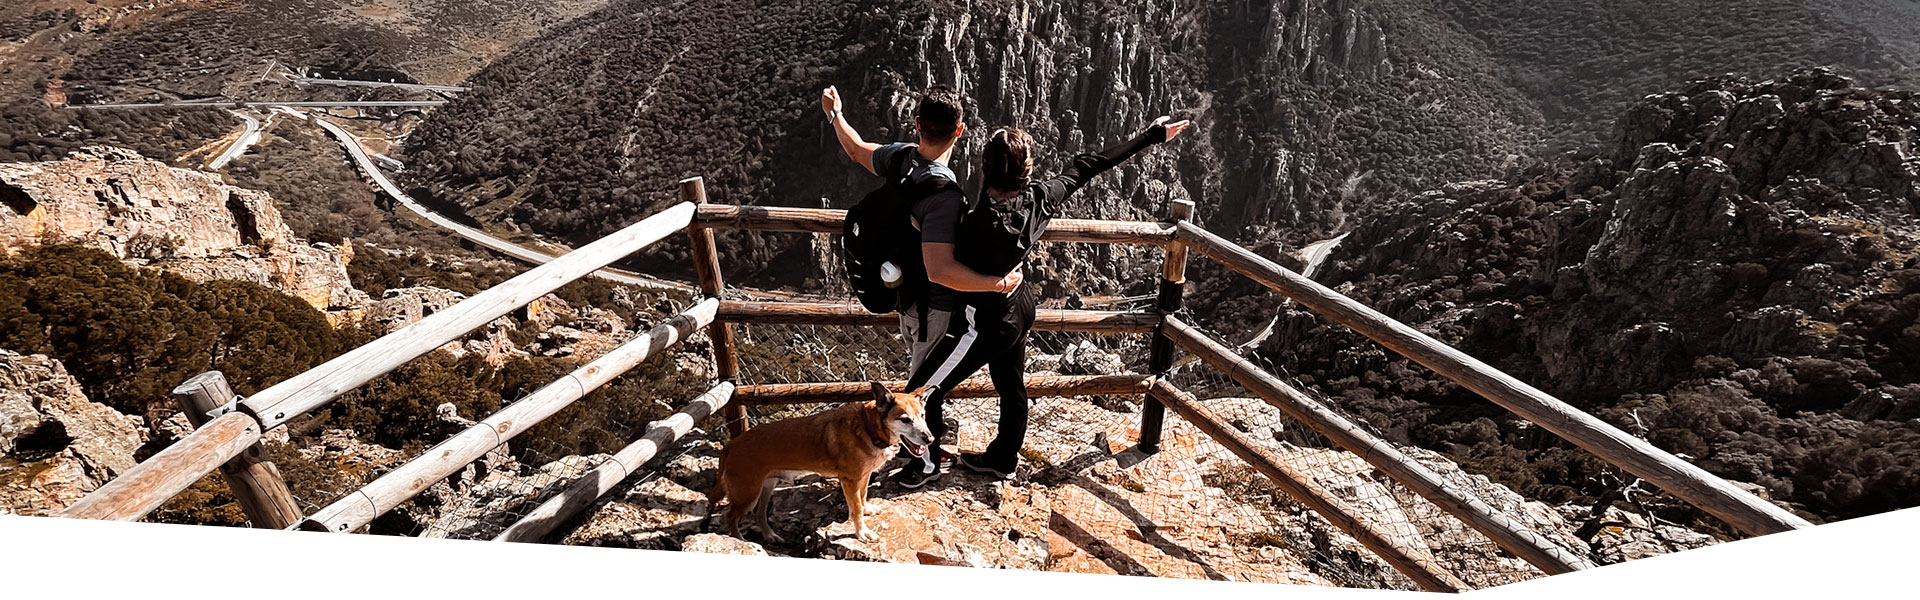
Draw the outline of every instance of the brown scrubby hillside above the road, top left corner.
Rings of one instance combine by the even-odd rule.
[[[457,83],[513,42],[601,0],[305,2],[27,0],[0,6],[0,160],[115,144],[175,160],[234,129],[221,112],[69,112],[58,104],[357,98],[263,81],[269,63],[328,77]]]

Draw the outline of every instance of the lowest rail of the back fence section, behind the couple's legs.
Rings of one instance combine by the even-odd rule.
[[[1027,375],[1027,398],[1146,394],[1148,383],[1146,375]],[[883,385],[893,392],[906,392],[906,381],[883,381]],[[991,396],[998,392],[987,377],[966,379],[947,392],[947,398]],[[733,398],[739,406],[858,402],[874,398],[874,385],[864,381],[743,385]]]

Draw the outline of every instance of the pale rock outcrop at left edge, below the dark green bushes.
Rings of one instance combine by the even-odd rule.
[[[88,402],[67,367],[0,350],[0,513],[54,513],[134,465],[140,419]]]

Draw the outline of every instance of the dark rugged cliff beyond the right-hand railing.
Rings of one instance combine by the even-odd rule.
[[[1365,212],[1321,281],[1820,517],[1905,508],[1920,498],[1916,137],[1905,90],[1830,71],[1701,81],[1644,100],[1592,154]],[[1196,296],[1213,294],[1233,292]],[[1528,496],[1607,487],[1601,465],[1336,325],[1236,310],[1281,312],[1261,354],[1375,427]]]

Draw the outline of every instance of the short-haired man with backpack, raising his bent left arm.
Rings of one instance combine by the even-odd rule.
[[[899,173],[879,173],[885,165],[891,165],[899,152],[912,152],[904,162],[904,171],[914,183],[924,183],[929,177],[945,177],[947,181],[958,181],[954,171],[947,167],[948,158],[952,158],[954,144],[966,133],[964,110],[960,108],[960,94],[945,85],[935,85],[920,96],[920,106],[914,108],[914,131],[920,137],[918,144],[897,142],[897,144],[874,144],[860,138],[860,133],[847,125],[841,113],[839,90],[828,87],[820,94],[820,108],[826,110],[828,119],[833,121],[833,133],[839,137],[841,148],[854,163],[866,167],[868,173],[881,177],[897,177]],[[964,333],[954,335],[950,329],[954,312],[960,310],[960,292],[1000,292],[1012,294],[1020,288],[1021,273],[1016,269],[1006,277],[981,275],[954,260],[954,231],[958,229],[960,215],[966,212],[966,194],[948,187],[947,190],[935,192],[931,196],[914,200],[912,225],[920,231],[922,262],[927,269],[925,298],[914,298],[908,306],[899,310],[900,333],[906,335],[912,346],[910,373],[920,373],[922,363],[927,362],[929,354],[943,338],[970,340]],[[922,333],[920,313],[925,313],[925,333]],[[966,323],[972,325],[972,323]],[[948,352],[952,342],[945,344]],[[966,348],[960,348],[966,354]],[[945,360],[943,360],[945,363]],[[933,377],[941,379],[941,377]],[[939,438],[947,435],[947,423],[943,419],[943,400],[947,390],[939,390],[935,398],[927,402],[927,427],[933,431],[935,444],[925,458],[912,458],[912,462],[900,471],[893,473],[893,481],[918,488],[939,475],[943,463],[952,462],[952,456],[939,446]]]

